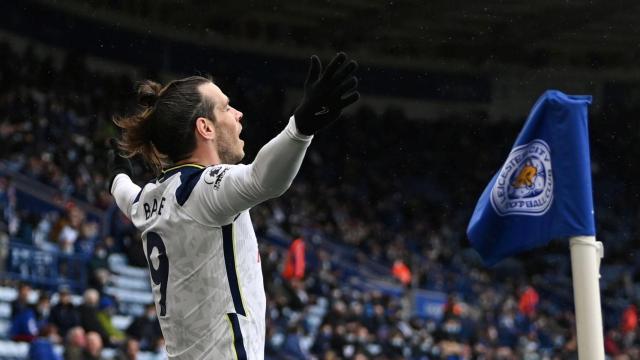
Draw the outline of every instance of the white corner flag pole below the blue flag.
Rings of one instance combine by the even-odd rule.
[[[570,239],[573,298],[576,307],[578,358],[604,360],[602,309],[600,307],[600,259],[602,243],[595,236]]]

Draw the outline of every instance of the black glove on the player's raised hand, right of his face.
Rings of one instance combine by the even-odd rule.
[[[313,55],[309,75],[304,82],[304,96],[294,112],[296,127],[304,135],[313,135],[335,121],[344,108],[360,98],[356,91],[358,68],[354,60],[347,61],[345,53],[338,53],[322,71],[320,59]]]

